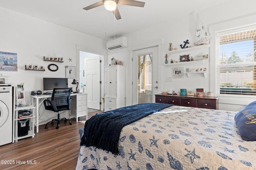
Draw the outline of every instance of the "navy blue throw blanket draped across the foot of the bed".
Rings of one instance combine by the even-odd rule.
[[[85,122],[80,145],[118,154],[119,136],[124,126],[170,106],[173,104],[144,103],[96,114]]]

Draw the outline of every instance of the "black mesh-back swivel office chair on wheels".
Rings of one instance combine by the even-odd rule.
[[[69,121],[69,124],[72,125],[72,122],[66,118],[60,119],[60,111],[70,110],[71,107],[71,93],[72,88],[54,88],[52,92],[51,100],[44,100],[44,107],[46,110],[51,110],[54,112],[58,112],[58,119],[52,119],[52,121],[48,122],[53,125],[54,122],[57,122],[56,129],[60,127],[60,121],[64,120],[66,123]],[[48,123],[45,125],[45,129],[48,129]]]

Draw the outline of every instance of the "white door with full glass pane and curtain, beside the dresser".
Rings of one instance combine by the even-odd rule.
[[[158,94],[158,47],[132,52],[132,104],[155,102]]]

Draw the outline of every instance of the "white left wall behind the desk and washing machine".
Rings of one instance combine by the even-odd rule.
[[[0,23],[0,51],[18,54],[18,72],[0,71],[0,74],[10,76],[15,86],[24,82],[26,104],[31,103],[31,91],[43,91],[43,77],[65,78],[65,66],[76,66],[78,47],[84,47],[91,52],[106,53],[106,42],[102,39],[5,8],[0,8]],[[63,57],[64,63],[43,61],[44,56]],[[72,59],[71,62],[69,58]],[[58,65],[58,71],[48,70],[47,66],[51,63]],[[42,65],[46,71],[25,70],[25,65],[29,64]],[[79,72],[76,78],[79,78]],[[69,80],[69,86],[75,88],[71,84],[72,80]],[[44,106],[41,106],[39,123],[46,123],[43,121],[52,119],[52,115],[56,114],[44,111]],[[64,116],[67,117],[67,112]]]

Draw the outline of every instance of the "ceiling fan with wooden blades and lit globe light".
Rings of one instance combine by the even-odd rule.
[[[96,8],[98,6],[104,5],[106,10],[113,11],[116,20],[120,20],[121,16],[119,13],[119,10],[117,8],[117,4],[119,5],[128,5],[128,6],[138,6],[138,7],[144,7],[145,2],[136,1],[136,0],[102,0],[100,2],[96,2],[95,4],[86,6],[83,8],[84,10],[90,10],[92,8]]]

